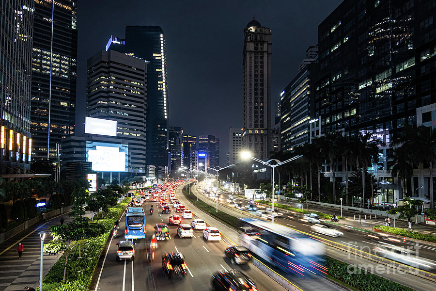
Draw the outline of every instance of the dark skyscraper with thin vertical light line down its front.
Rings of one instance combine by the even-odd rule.
[[[54,159],[55,144],[75,132],[77,3],[76,0],[34,1],[34,5],[32,159]]]

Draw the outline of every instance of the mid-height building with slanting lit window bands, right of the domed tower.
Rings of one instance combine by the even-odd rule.
[[[282,151],[292,151],[310,140],[311,88],[317,77],[317,52],[318,46],[306,50],[306,58],[301,62],[296,77],[280,93]]]

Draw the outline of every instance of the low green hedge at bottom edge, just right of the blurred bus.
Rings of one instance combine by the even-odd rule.
[[[349,265],[337,259],[327,257],[326,263],[328,275],[361,291],[413,291],[387,278],[358,269],[355,265]]]

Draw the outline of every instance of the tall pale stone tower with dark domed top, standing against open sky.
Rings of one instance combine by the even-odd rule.
[[[271,151],[271,30],[254,17],[244,29],[243,147],[266,160]]]

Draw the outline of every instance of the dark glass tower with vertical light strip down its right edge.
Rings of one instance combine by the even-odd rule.
[[[156,166],[159,178],[168,173],[169,98],[165,39],[158,26],[126,26],[127,53],[149,61],[147,88],[147,164]]]

